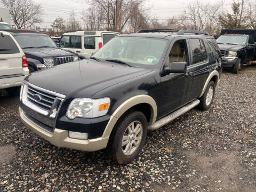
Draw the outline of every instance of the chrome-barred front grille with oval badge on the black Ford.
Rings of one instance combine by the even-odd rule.
[[[35,95],[37,97],[35,97]],[[54,95],[37,90],[34,87],[28,85],[27,98],[37,107],[40,107],[49,112],[52,108],[53,102],[56,97]]]

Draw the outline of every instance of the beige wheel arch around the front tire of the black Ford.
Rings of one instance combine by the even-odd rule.
[[[143,109],[146,107],[146,110]],[[125,100],[111,115],[109,122],[103,132],[102,137],[109,137],[118,119],[130,109],[138,109],[145,114],[148,124],[153,124],[156,121],[157,105],[155,100],[149,95],[136,95],[130,99]],[[150,109],[150,111],[147,111]],[[150,114],[150,116],[149,116]]]

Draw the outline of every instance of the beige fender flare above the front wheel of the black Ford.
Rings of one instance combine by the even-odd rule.
[[[153,124],[156,122],[156,116],[157,116],[157,106],[156,102],[153,98],[151,98],[149,95],[136,95],[130,99],[127,99],[124,101],[111,115],[109,122],[106,126],[105,131],[103,132],[102,138],[107,138],[110,136],[116,122],[118,119],[130,108],[132,108],[135,105],[138,105],[140,103],[147,103],[150,106],[151,109],[151,118],[149,124]]]

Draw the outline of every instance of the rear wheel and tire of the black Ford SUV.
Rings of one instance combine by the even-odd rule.
[[[200,103],[198,105],[198,108],[201,110],[210,109],[213,102],[214,94],[215,94],[215,83],[213,81],[210,81],[204,91],[203,96],[199,98]]]

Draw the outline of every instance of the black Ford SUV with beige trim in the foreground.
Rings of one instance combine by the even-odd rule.
[[[114,37],[89,60],[29,75],[20,117],[55,146],[107,148],[124,164],[140,153],[147,130],[195,106],[209,109],[221,70],[205,32],[140,30]]]

